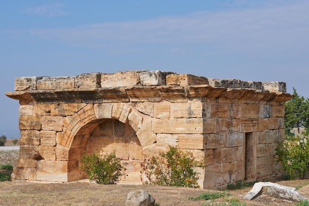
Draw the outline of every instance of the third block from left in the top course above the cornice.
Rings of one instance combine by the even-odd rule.
[[[101,73],[84,73],[75,77],[76,88],[99,88],[101,87]]]

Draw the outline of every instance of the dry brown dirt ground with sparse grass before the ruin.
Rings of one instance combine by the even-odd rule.
[[[0,164],[11,162],[10,164],[16,165],[17,157],[18,150],[15,150],[15,152],[14,150],[0,151]],[[0,172],[10,173],[10,171]],[[298,192],[304,197],[309,198],[309,179],[277,183],[289,187],[300,187],[307,184],[298,189]],[[251,201],[244,200],[243,196],[251,188],[227,191],[231,196],[213,201],[193,201],[189,198],[197,197],[208,190],[155,185],[99,185],[81,181],[59,184],[0,182],[0,206],[124,206],[127,194],[136,190],[146,190],[149,192],[159,206],[218,206],[219,204],[225,205],[231,199],[238,200],[242,206],[244,204],[247,206],[295,205],[293,202],[265,195],[261,195]],[[229,203],[228,205],[231,204]]]

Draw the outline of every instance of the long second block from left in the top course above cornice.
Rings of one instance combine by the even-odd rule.
[[[37,80],[38,90],[74,89],[75,78],[73,76],[41,77]]]

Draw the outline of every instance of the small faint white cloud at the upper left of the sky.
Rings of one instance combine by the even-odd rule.
[[[53,3],[37,7],[28,7],[25,8],[23,11],[29,15],[63,16],[66,15],[66,12],[62,10],[63,7],[64,7],[63,3]]]

